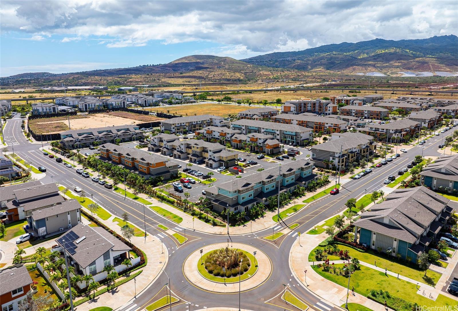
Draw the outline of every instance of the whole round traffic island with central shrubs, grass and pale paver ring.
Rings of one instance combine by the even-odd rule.
[[[264,283],[272,272],[272,262],[262,251],[245,244],[218,243],[204,246],[189,255],[183,273],[201,289],[234,293]],[[240,273],[240,275],[239,275]]]

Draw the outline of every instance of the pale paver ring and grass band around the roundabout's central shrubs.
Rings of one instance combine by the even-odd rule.
[[[186,258],[185,263],[183,264],[183,274],[185,275],[185,278],[196,287],[211,292],[219,294],[238,292],[239,276],[226,278],[226,282],[224,283],[224,278],[214,277],[208,273],[205,270],[205,267],[201,264],[201,250],[202,257],[204,257],[212,251],[226,247],[227,243],[211,244],[192,252],[191,255]],[[272,262],[266,254],[257,248],[241,243],[234,243],[230,248],[243,251],[251,262],[251,266],[249,267],[248,271],[240,276],[241,291],[247,291],[256,288],[264,283],[267,278],[269,278],[270,274],[272,273]],[[256,251],[256,258],[253,256],[254,251]],[[202,262],[205,263],[203,259]],[[201,267],[201,272],[199,272],[198,267]],[[204,277],[202,274],[204,274],[206,277]]]

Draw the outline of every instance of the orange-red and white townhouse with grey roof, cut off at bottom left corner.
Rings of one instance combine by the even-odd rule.
[[[2,311],[16,311],[26,298],[33,283],[27,267],[16,264],[0,270],[0,307]]]

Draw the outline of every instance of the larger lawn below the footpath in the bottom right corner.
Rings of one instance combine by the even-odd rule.
[[[343,264],[334,265],[342,268]],[[326,278],[334,283],[337,283],[343,287],[347,287],[348,278],[335,275],[327,272],[323,272],[322,268],[312,267],[316,273],[320,274],[323,278]],[[388,290],[391,295],[402,297],[411,303],[416,302],[420,306],[456,306],[456,300],[448,298],[444,295],[439,295],[436,301],[428,299],[422,295],[417,295],[416,284],[409,283],[407,281],[397,279],[393,276],[386,276],[384,272],[376,271],[374,269],[361,266],[360,270],[355,271],[350,278],[350,288],[354,286],[354,291],[358,294],[367,296],[370,294],[371,289],[382,289]]]

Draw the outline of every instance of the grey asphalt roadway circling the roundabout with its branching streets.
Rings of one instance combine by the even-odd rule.
[[[451,135],[453,130],[444,133],[444,137]],[[103,207],[107,208],[110,213],[120,217],[124,212],[131,214],[131,222],[139,227],[146,228],[149,235],[154,235],[157,239],[162,239],[164,247],[169,250],[169,262],[165,267],[165,272],[170,277],[171,289],[174,295],[180,297],[182,301],[189,301],[190,304],[180,304],[172,307],[172,310],[196,310],[203,307],[234,307],[238,308],[239,294],[220,294],[204,291],[197,288],[185,278],[182,272],[183,263],[186,257],[193,251],[201,248],[204,245],[227,242],[228,238],[233,242],[240,242],[254,246],[263,251],[272,261],[272,274],[267,280],[255,289],[241,293],[241,308],[250,310],[284,310],[291,306],[284,305],[279,301],[278,306],[265,303],[265,301],[278,295],[283,290],[282,284],[290,286],[294,292],[305,300],[312,309],[317,311],[340,310],[326,301],[320,299],[308,289],[305,289],[299,281],[297,281],[288,266],[289,250],[293,245],[297,235],[295,232],[304,233],[311,229],[315,224],[325,220],[336,213],[341,212],[345,207],[344,203],[351,197],[357,198],[365,193],[370,193],[373,190],[378,190],[383,186],[383,180],[388,175],[396,175],[399,169],[405,167],[411,162],[415,155],[424,153],[424,156],[438,156],[438,144],[441,142],[441,136],[434,136],[423,146],[413,147],[408,153],[402,153],[400,158],[389,162],[381,168],[373,169],[373,172],[362,177],[359,180],[351,180],[344,184],[340,193],[335,196],[324,196],[321,199],[307,205],[300,212],[295,213],[285,222],[279,225],[274,225],[273,228],[268,228],[260,232],[255,232],[248,235],[209,235],[202,232],[190,232],[185,230],[166,218],[154,213],[151,209],[145,208],[142,204],[125,198],[120,194],[100,186],[90,178],[84,178],[77,174],[75,169],[67,168],[62,163],[56,163],[54,159],[44,156],[38,150],[41,144],[32,144],[28,142],[21,132],[21,119],[16,117],[8,120],[5,127],[5,139],[8,144],[14,146],[14,151],[22,158],[34,166],[43,165],[47,168],[46,177],[41,180],[43,183],[56,182],[63,184],[70,189],[74,186],[79,186],[84,189],[88,196],[93,197],[93,200],[98,202]],[[10,149],[11,150],[11,149]],[[204,168],[202,168],[203,170]],[[143,214],[143,210],[145,213]],[[294,233],[285,235],[278,239],[276,243],[268,242],[261,239],[262,236],[272,234],[273,231],[283,229],[287,224],[299,223],[300,226],[294,229]],[[181,234],[186,232],[186,236],[190,238],[185,244],[178,245],[169,235],[164,236],[164,232],[157,229],[158,224],[172,228]],[[229,242],[230,243],[230,242]],[[147,246],[145,246],[147,247]],[[158,280],[145,290],[141,295],[137,295],[136,299],[125,304],[119,310],[133,311],[142,310],[147,305],[153,302],[152,297],[158,293],[164,284],[168,283],[169,279],[165,273],[162,273]]]

